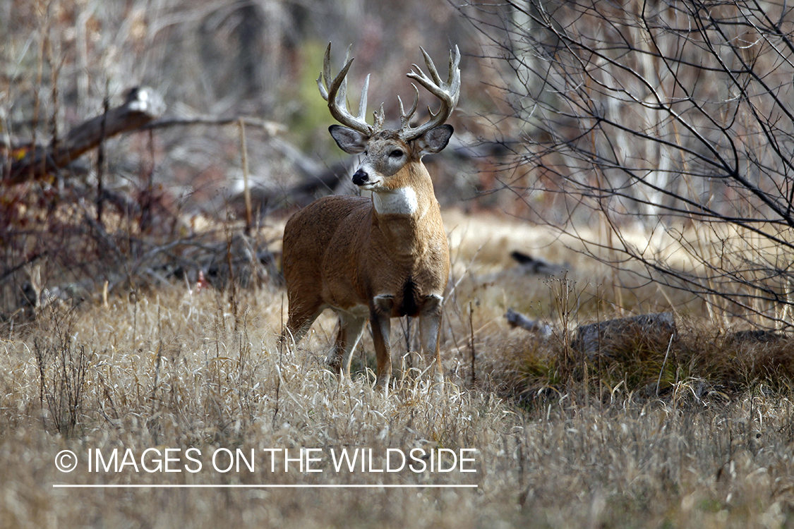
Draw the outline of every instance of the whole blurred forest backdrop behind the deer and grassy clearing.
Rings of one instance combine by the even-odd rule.
[[[276,278],[279,222],[356,192],[315,82],[327,43],[334,69],[352,44],[351,93],[372,74],[372,109],[384,102],[392,119],[420,46],[445,75],[458,45],[456,135],[427,160],[442,209],[578,241],[628,273],[613,278],[613,310],[632,309],[619,288],[657,282],[712,320],[787,329],[789,9],[2,0],[0,305],[13,312],[20,293],[40,304],[43,284],[124,293],[199,272],[218,286]],[[116,109],[144,104],[145,125],[105,137]],[[60,163],[58,146],[91,118],[102,141]]]

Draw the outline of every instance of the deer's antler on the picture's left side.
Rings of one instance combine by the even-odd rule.
[[[348,47],[345,54],[345,66],[342,67],[339,74],[329,84],[331,79],[331,43],[328,43],[326,57],[322,61],[322,72],[317,78],[317,86],[320,89],[322,98],[328,102],[328,108],[333,119],[362,134],[372,136],[384,126],[384,105],[380,105],[380,113],[374,113],[375,124],[369,125],[364,118],[364,114],[367,112],[367,91],[369,89],[369,75],[367,75],[367,79],[364,80],[364,88],[361,89],[358,115],[353,116],[350,113],[347,107],[347,72],[351,63],[353,63],[353,59],[350,59],[350,47]],[[326,86],[322,86],[323,81],[325,81]]]

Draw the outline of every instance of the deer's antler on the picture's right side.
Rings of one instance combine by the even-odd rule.
[[[416,82],[424,86],[430,94],[433,94],[437,98],[441,100],[441,108],[438,109],[437,113],[433,113],[430,110],[430,107],[427,108],[427,111],[430,112],[430,120],[427,121],[424,125],[419,125],[418,127],[411,127],[409,125],[410,118],[414,117],[414,113],[416,112],[416,107],[419,101],[419,90],[414,86],[414,104],[411,105],[410,110],[406,113],[403,110],[403,100],[399,99],[399,119],[402,127],[400,128],[399,135],[405,141],[414,140],[419,136],[422,136],[425,132],[429,131],[432,128],[436,128],[438,125],[443,124],[449,116],[452,114],[455,105],[457,104],[457,98],[461,95],[461,70],[458,67],[458,64],[461,63],[461,52],[458,51],[457,46],[455,46],[454,50],[450,50],[449,52],[449,76],[447,78],[447,82],[441,81],[441,76],[438,75],[438,71],[433,63],[433,59],[430,59],[430,56],[427,55],[427,52],[424,48],[419,48],[422,50],[422,55],[425,56],[425,64],[427,65],[427,70],[430,72],[430,77],[425,75],[425,72],[422,71],[420,67],[416,64],[413,67],[417,71],[410,71],[407,75],[410,79],[414,79]],[[383,112],[381,112],[383,113]]]

